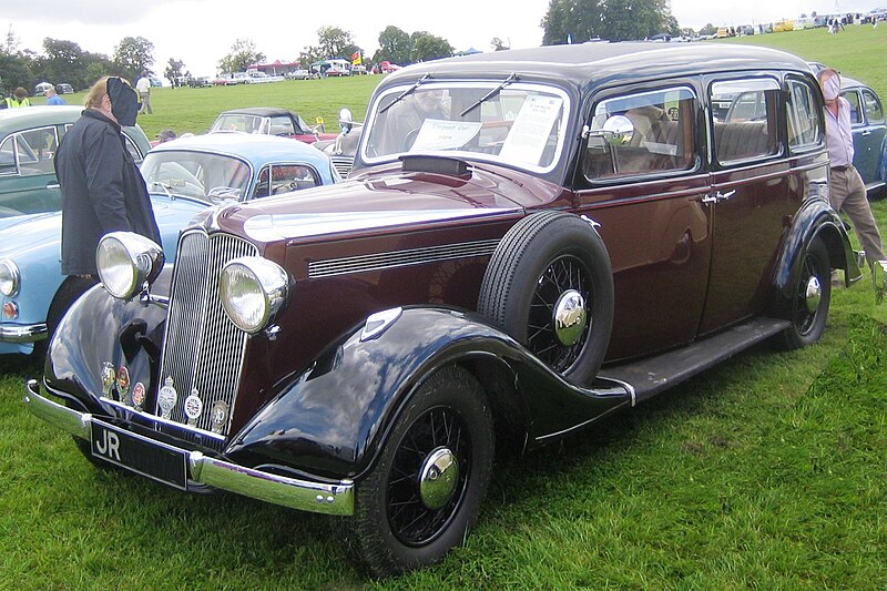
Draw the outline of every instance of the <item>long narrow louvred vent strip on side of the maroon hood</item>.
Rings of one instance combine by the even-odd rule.
[[[453,258],[490,256],[498,244],[499,240],[489,240],[461,244],[442,244],[439,246],[427,246],[425,248],[411,248],[409,251],[348,256],[344,258],[329,258],[327,261],[314,261],[308,263],[308,278],[316,279],[333,275],[407,267]]]

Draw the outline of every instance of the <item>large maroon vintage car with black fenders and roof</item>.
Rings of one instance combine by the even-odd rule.
[[[859,277],[823,130],[806,63],[765,49],[405,68],[349,181],[207,211],[172,271],[105,236],[103,286],[27,401],[99,465],[348,514],[374,572],[429,564],[476,521],[497,446],[819,338],[832,269]]]

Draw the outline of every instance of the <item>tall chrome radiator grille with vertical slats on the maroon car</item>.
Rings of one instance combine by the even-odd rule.
[[[202,412],[192,419],[191,429],[213,431],[214,405],[226,405],[227,417],[215,426],[220,439],[227,435],[231,425],[246,334],[234,326],[222,308],[218,274],[232,258],[256,254],[251,243],[225,234],[207,236],[203,232],[190,232],[179,241],[160,385],[172,378],[177,393],[169,416],[172,421],[187,424],[185,401],[192,394],[200,398]],[[157,398],[154,411],[162,416],[160,396]],[[191,403],[193,409],[193,400]],[[176,429],[173,432],[181,436],[186,431]]]

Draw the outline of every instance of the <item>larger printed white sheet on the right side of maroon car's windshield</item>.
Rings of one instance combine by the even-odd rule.
[[[504,160],[539,165],[562,104],[559,96],[527,96],[499,155]]]

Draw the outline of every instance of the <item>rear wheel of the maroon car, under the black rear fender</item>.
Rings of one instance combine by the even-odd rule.
[[[777,342],[783,349],[797,349],[819,340],[832,302],[832,267],[828,251],[819,238],[810,242],[798,265],[799,272],[792,287],[786,315],[792,326],[779,334]],[[809,295],[808,289],[813,291]],[[815,296],[816,300],[812,300],[810,296]]]

